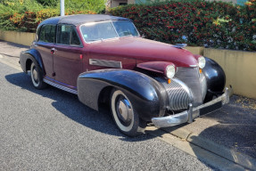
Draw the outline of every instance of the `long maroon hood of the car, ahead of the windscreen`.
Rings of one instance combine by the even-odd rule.
[[[185,49],[142,37],[120,37],[87,45],[89,53],[136,59],[145,61],[170,61],[177,67],[197,66],[197,58]]]

